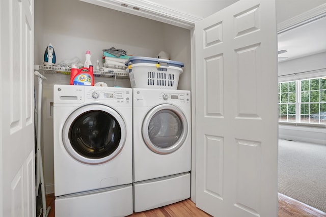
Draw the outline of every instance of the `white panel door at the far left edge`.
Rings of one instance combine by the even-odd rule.
[[[34,1],[1,0],[0,14],[0,216],[34,217]]]

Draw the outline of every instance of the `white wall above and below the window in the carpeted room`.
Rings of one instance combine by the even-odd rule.
[[[326,52],[279,63],[279,82],[326,76]],[[326,130],[308,126],[279,125],[279,138],[326,144]]]

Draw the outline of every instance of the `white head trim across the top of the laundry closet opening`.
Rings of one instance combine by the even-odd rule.
[[[129,14],[153,19],[156,21],[176,25],[186,29],[192,29],[195,23],[201,20],[188,14],[153,4],[147,0],[79,0],[94,5],[126,12]],[[122,6],[124,5],[124,6]],[[136,8],[136,9],[134,9]],[[137,10],[138,9],[138,10]]]

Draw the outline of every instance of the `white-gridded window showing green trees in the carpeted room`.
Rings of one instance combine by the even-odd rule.
[[[279,121],[326,124],[326,78],[280,82]]]

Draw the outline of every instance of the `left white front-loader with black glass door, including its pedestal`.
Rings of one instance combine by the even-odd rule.
[[[53,86],[56,216],[132,213],[132,89]]]

